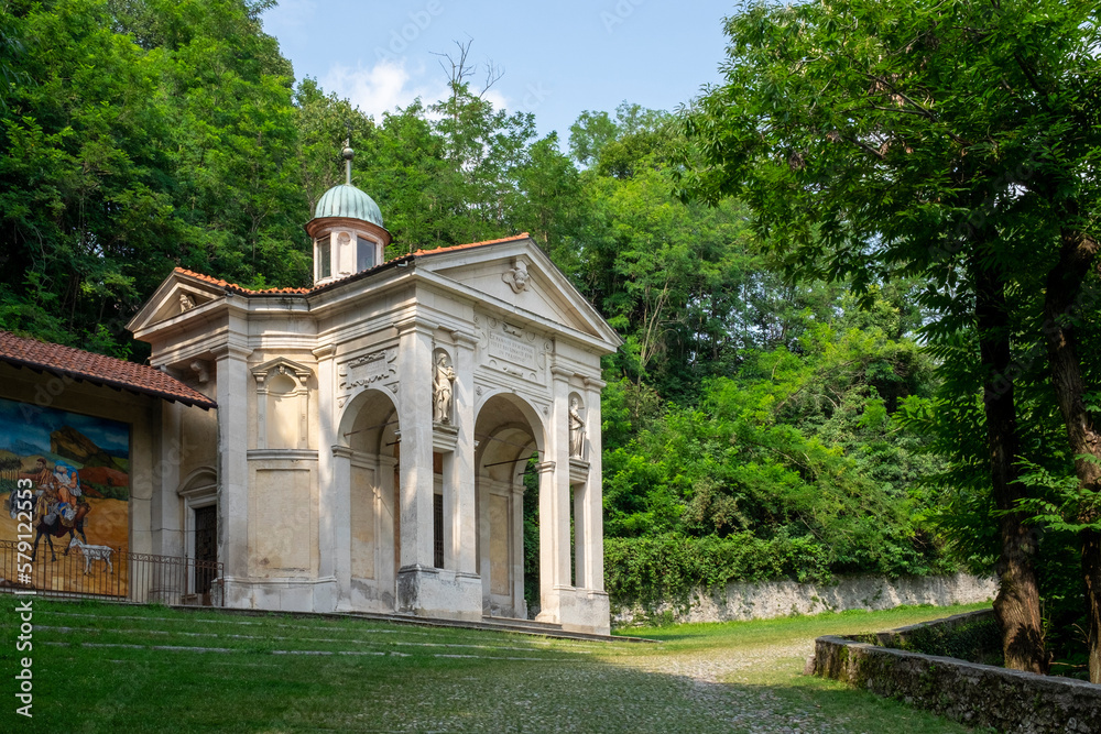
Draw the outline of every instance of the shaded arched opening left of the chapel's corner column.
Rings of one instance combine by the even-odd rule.
[[[401,558],[397,408],[389,394],[368,390],[348,405],[338,440],[338,484],[348,487],[345,573],[350,602],[392,611]],[[345,463],[345,460],[347,463]]]

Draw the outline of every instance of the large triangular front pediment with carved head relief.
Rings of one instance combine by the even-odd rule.
[[[488,300],[599,339],[612,350],[621,343],[597,309],[530,238],[425,255],[418,267]]]

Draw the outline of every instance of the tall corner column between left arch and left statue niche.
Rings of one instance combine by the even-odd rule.
[[[399,333],[397,415],[401,430],[401,569],[399,611],[423,606],[421,587],[433,568],[432,336],[429,325],[408,318]]]

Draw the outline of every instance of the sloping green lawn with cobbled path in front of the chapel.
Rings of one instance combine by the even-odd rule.
[[[0,732],[964,732],[803,677],[813,640],[981,609],[630,629],[578,643],[359,620],[0,595]],[[33,658],[33,720],[14,713]]]

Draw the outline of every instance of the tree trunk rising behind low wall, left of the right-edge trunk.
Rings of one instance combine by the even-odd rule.
[[[1044,627],[1036,582],[1036,530],[1015,508],[1025,496],[1017,483],[1017,416],[1013,381],[1009,377],[1012,354],[1010,324],[1002,273],[991,266],[974,266],[975,325],[979,352],[985,371],[982,386],[986,438],[990,448],[990,478],[994,505],[1004,512],[1000,519],[1002,554],[998,560],[999,588],[994,615],[1002,629],[1005,667],[1047,672]]]

